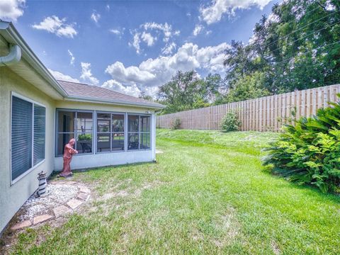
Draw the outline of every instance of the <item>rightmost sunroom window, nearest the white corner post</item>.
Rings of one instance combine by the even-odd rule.
[[[128,149],[150,149],[151,117],[128,115]]]

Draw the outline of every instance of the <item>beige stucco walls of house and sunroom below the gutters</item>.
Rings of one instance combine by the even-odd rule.
[[[49,84],[45,84],[49,86]],[[11,182],[11,95],[18,94],[46,107],[45,161],[31,169],[15,183]],[[132,106],[114,106],[108,103],[89,103],[51,98],[42,93],[34,84],[30,84],[8,67],[0,67],[0,232],[6,227],[13,215],[38,188],[38,173],[47,175],[62,169],[62,157],[55,157],[55,113],[57,108],[109,111],[121,113],[147,113],[152,115],[152,149],[144,151],[115,152],[106,154],[87,154],[75,156],[72,169],[84,169],[96,166],[152,162],[155,160],[156,123],[152,109]]]

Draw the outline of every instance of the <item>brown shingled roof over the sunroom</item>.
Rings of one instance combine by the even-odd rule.
[[[71,81],[58,80],[62,88],[67,92],[67,98],[94,100],[103,103],[123,104],[130,106],[144,106],[149,108],[164,108],[160,103],[154,103],[135,96],[128,96],[111,89],[99,86],[81,84]]]

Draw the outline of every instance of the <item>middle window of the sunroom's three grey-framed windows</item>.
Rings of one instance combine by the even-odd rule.
[[[125,149],[124,122],[124,114],[97,114],[97,152],[116,152]]]

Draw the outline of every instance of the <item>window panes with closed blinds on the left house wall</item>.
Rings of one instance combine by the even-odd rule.
[[[45,107],[12,96],[11,180],[26,174],[45,159]]]

